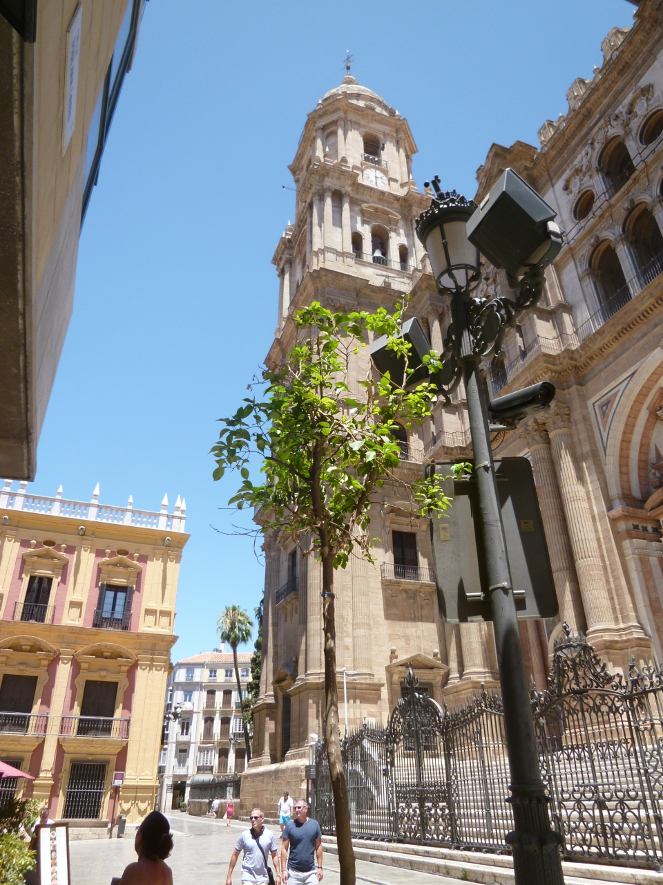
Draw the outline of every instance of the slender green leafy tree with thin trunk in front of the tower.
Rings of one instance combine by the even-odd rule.
[[[400,484],[400,509],[411,515],[436,512],[449,504],[442,478],[427,476],[408,484],[394,469],[400,447],[395,433],[431,414],[436,390],[429,383],[408,384],[410,345],[401,335],[405,303],[393,315],[333,313],[311,304],[295,315],[299,341],[281,366],[263,373],[263,396],[249,397],[223,427],[212,453],[219,480],[238,470],[242,484],[229,504],[257,508],[260,530],[286,531],[306,555],[322,566],[324,629],[324,737],[329,758],[339,845],[341,885],[354,885],[347,782],[339,735],[336,673],[334,570],[351,555],[373,561],[370,506],[385,482]],[[354,360],[368,333],[388,336],[388,349],[402,367],[400,378],[377,378],[370,370],[355,381]],[[431,371],[437,355],[424,358]],[[261,481],[250,478],[255,458],[262,461]]]

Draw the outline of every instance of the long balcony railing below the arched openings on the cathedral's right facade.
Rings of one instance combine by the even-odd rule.
[[[645,289],[652,281],[663,273],[663,254],[657,255],[648,265],[642,267],[634,277],[632,277],[625,286],[618,289],[613,296],[608,298],[604,304],[598,308],[598,311],[591,314],[589,319],[585,319],[575,332],[561,334],[556,338],[547,338],[543,335],[537,335],[524,350],[521,350],[518,356],[507,363],[499,372],[492,372],[489,375],[491,383],[492,396],[497,396],[499,391],[509,384],[515,376],[521,372],[524,366],[527,366],[540,353],[558,354],[562,350],[575,350],[590,335],[598,332],[598,329],[606,324],[621,311],[622,307],[629,304],[639,292]]]

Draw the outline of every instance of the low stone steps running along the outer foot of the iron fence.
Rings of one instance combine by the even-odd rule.
[[[324,850],[338,854],[334,836],[323,836]],[[514,885],[514,865],[508,855],[484,854],[436,846],[354,840],[357,860],[434,873],[456,881],[479,885]],[[663,873],[632,866],[562,861],[566,885],[663,885]]]

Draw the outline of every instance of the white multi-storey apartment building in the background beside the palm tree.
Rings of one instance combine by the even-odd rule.
[[[245,696],[251,652],[238,652],[237,657]],[[173,720],[171,713],[178,718]],[[225,798],[232,789],[228,781],[244,771],[246,756],[232,652],[221,648],[178,661],[166,689],[158,808],[169,812],[188,803],[192,787],[207,793],[217,786],[219,797]]]

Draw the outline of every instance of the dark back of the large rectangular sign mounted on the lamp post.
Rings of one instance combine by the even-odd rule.
[[[451,466],[438,463],[436,473]],[[495,474],[518,618],[552,618],[559,605],[530,462],[501,458]],[[446,480],[445,494],[453,498],[448,517],[431,519],[440,613],[452,624],[492,620],[476,481]]]

